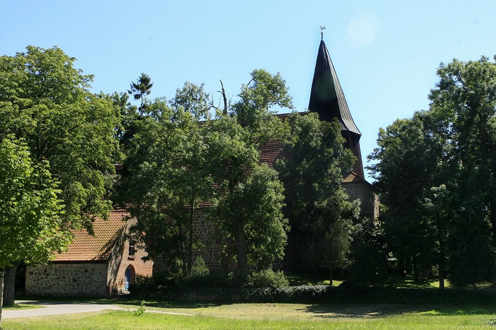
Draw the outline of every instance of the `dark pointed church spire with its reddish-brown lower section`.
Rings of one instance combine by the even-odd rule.
[[[341,123],[341,133],[346,139],[346,147],[351,149],[358,158],[353,172],[364,179],[362,157],[360,152],[361,133],[351,117],[345,95],[341,89],[338,75],[330,60],[324,40],[320,41],[315,73],[313,74],[312,90],[308,110],[317,112],[320,120],[333,121],[338,118]]]

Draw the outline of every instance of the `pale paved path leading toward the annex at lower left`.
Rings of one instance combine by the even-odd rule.
[[[123,309],[110,304],[63,303],[55,301],[16,301],[16,303],[41,305],[42,308],[2,310],[2,318],[45,316],[97,312],[104,309]]]

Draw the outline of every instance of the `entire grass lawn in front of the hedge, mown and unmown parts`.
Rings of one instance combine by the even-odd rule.
[[[494,329],[486,322],[496,313],[496,304],[440,307],[150,302],[146,303],[145,314],[135,316],[134,304],[137,302],[122,304],[129,311],[6,319],[3,329]]]

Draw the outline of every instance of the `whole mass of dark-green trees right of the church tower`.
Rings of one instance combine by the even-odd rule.
[[[440,284],[446,268],[453,284],[474,284],[496,272],[496,64],[453,60],[437,73],[430,110],[381,129],[369,169],[398,259],[416,274],[437,266]]]

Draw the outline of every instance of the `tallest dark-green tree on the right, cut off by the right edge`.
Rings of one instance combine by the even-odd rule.
[[[450,280],[465,285],[496,275],[496,59],[454,59],[437,70],[431,111],[449,127],[454,170],[447,189],[452,223]]]

